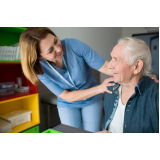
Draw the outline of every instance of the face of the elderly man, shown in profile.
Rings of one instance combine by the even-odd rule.
[[[117,44],[112,52],[108,68],[113,72],[113,79],[115,83],[125,84],[128,83],[134,76],[133,66],[130,66],[126,61],[125,54],[123,53],[122,44]]]

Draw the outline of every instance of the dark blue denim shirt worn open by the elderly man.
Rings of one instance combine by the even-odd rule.
[[[105,93],[105,129],[112,121],[118,106],[118,85],[108,87],[112,94]],[[116,88],[116,89],[115,89]],[[126,111],[127,110],[127,111]],[[135,94],[126,104],[124,133],[159,133],[159,83],[150,77],[143,77],[135,87]]]

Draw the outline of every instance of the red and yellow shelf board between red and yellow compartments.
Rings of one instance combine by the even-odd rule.
[[[10,102],[10,101],[15,101],[15,100],[19,100],[19,99],[23,99],[23,98],[28,98],[31,97],[33,95],[35,95],[37,93],[20,93],[20,92],[16,92],[14,94],[10,94],[10,95],[3,95],[0,96],[0,104],[2,103],[6,103],[6,102]]]

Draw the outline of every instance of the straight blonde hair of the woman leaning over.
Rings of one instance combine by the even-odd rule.
[[[50,33],[57,37],[52,30],[47,27],[30,27],[20,36],[21,65],[26,78],[34,85],[39,83],[37,74],[43,74],[40,65],[42,57],[40,55],[40,41]]]

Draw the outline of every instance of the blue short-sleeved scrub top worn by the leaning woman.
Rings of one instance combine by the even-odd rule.
[[[84,90],[97,86],[90,67],[99,70],[105,63],[104,58],[77,39],[64,39],[61,40],[61,43],[65,49],[63,69],[49,64],[47,60],[43,59],[40,64],[44,74],[38,75],[39,80],[57,95],[57,107],[82,107],[100,101],[101,94],[75,102],[67,102],[59,97],[64,90],[75,91],[77,88]]]

